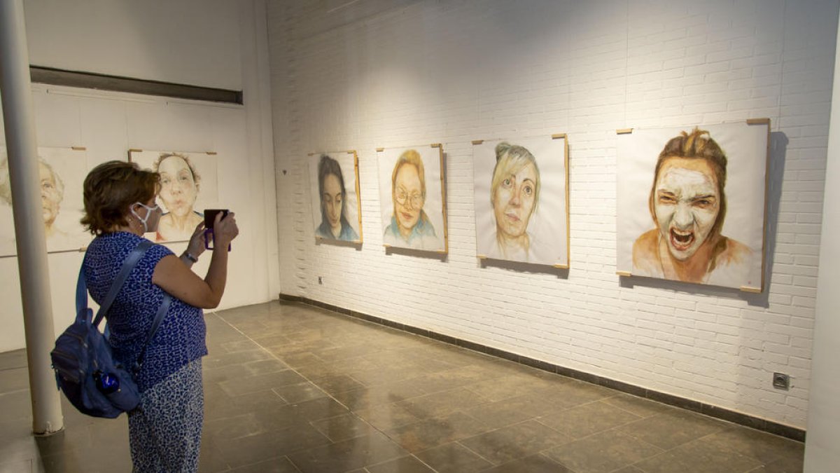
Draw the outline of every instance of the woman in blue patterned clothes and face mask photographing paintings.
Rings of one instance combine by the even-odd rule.
[[[81,223],[96,238],[87,248],[84,277],[97,304],[144,233],[157,230],[159,193],[160,174],[131,162],[102,163],[85,178]],[[134,471],[198,469],[204,417],[201,358],[207,354],[202,309],[218,306],[224,293],[228,244],[239,234],[233,212],[213,222],[213,256],[201,279],[190,267],[204,251],[203,233],[202,222],[180,258],[167,247],[150,247],[106,315],[114,359],[134,366],[164,293],[172,296],[136,375],[140,403],[129,412]]]

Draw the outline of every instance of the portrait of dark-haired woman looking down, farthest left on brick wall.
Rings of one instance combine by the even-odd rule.
[[[312,153],[309,183],[315,238],[320,242],[361,242],[356,152]]]

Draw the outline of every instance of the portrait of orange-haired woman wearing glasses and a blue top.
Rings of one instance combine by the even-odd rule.
[[[447,252],[443,147],[381,149],[377,155],[382,243]]]

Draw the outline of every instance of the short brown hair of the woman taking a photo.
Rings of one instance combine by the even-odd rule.
[[[81,225],[94,235],[129,225],[129,207],[135,202],[148,202],[159,190],[160,174],[144,171],[136,162],[103,162],[85,178]]]

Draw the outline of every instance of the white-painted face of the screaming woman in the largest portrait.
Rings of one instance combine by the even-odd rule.
[[[671,255],[685,261],[709,237],[721,196],[711,165],[703,159],[666,158],[654,186],[654,213]]]

